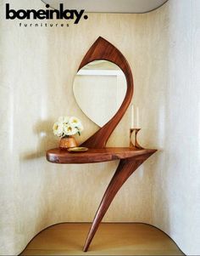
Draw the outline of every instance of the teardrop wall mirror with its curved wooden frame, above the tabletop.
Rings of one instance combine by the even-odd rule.
[[[101,127],[82,146],[104,148],[131,103],[133,77],[125,56],[103,37],[81,61],[74,94],[82,111]]]

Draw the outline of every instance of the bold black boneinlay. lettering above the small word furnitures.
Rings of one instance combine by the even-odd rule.
[[[6,19],[7,20],[53,20],[54,18],[58,20],[75,20],[75,24],[78,24],[81,20],[85,10],[81,9],[80,11],[76,9],[64,9],[64,4],[59,4],[59,9],[49,9],[49,4],[46,5],[45,9],[19,9],[14,10],[9,8],[9,3],[6,3]],[[84,15],[85,20],[88,19],[87,15]]]

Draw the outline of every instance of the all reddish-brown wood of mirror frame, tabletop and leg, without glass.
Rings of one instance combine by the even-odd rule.
[[[92,222],[91,230],[86,238],[86,243],[83,248],[84,252],[87,251],[88,247],[92,242],[92,238],[95,235],[98,225],[103,219],[103,216],[108,210],[109,205],[114,199],[121,186],[136,171],[142,162],[156,150],[143,149],[142,147],[125,147],[125,148],[106,148],[106,143],[109,136],[113,133],[114,128],[117,126],[121,118],[124,116],[125,111],[131,103],[133,95],[133,77],[131,68],[125,60],[123,54],[119,52],[117,48],[111,43],[98,37],[97,41],[87,52],[85,58],[82,60],[79,70],[89,62],[93,60],[108,60],[119,65],[120,69],[124,71],[127,82],[127,91],[125,94],[125,100],[119,108],[119,111],[114,117],[107,122],[103,128],[100,128],[96,134],[93,134],[89,139],[82,144],[89,148],[86,152],[68,152],[60,149],[53,149],[47,151],[47,161],[54,163],[89,163],[89,162],[108,162],[119,159],[119,166],[111,179],[107,191],[103,196],[102,202],[97,209],[97,213]],[[127,127],[129,128],[129,127]]]

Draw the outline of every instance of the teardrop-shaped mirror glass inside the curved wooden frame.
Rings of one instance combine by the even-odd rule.
[[[108,60],[94,60],[75,75],[74,94],[81,110],[103,127],[125,99],[125,74]]]

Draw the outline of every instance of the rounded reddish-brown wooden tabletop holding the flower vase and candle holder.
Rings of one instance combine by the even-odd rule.
[[[142,156],[155,151],[151,149],[136,150],[131,147],[107,147],[103,149],[89,149],[85,152],[69,152],[55,148],[47,151],[46,156],[48,162],[54,163],[90,163]]]

